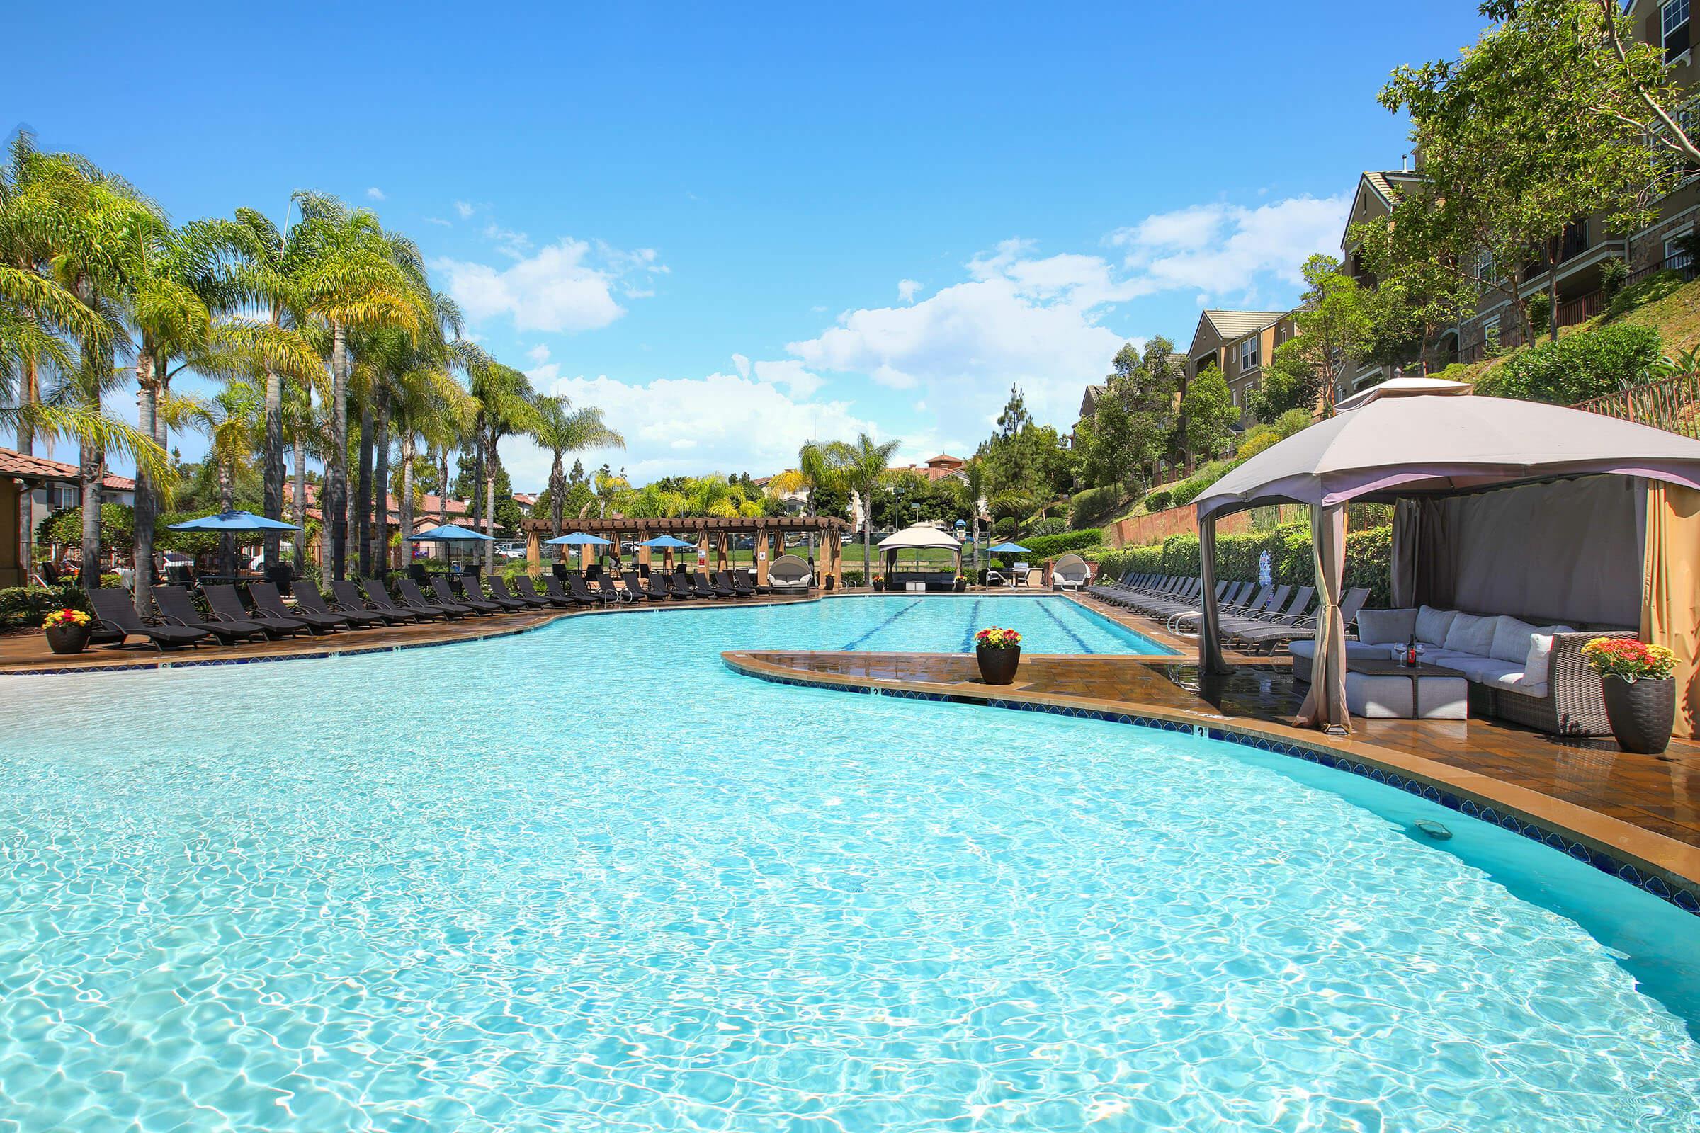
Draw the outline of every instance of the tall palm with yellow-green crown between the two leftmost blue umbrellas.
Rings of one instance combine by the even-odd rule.
[[[411,241],[386,233],[369,209],[298,192],[303,262],[294,275],[296,302],[330,335],[330,435],[325,460],[325,527],[330,554],[325,581],[343,578],[348,550],[348,335],[400,328],[415,331],[428,318],[425,265]]]

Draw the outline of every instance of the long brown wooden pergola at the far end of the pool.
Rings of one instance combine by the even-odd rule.
[[[542,569],[542,544],[551,538],[554,525],[549,520],[530,518],[520,525],[525,532],[525,561],[532,574]],[[656,535],[672,535],[697,545],[697,562],[707,569],[726,571],[731,566],[731,540],[750,535],[755,540],[755,578],[767,584],[767,567],[774,561],[774,538],[787,535],[816,535],[819,538],[819,559],[814,564],[816,578],[831,578],[833,588],[843,584],[843,535],[850,523],[835,516],[779,515],[755,518],[719,518],[719,516],[675,516],[675,518],[636,518],[612,516],[607,520],[568,520],[563,533],[585,532],[598,535],[619,547],[626,538],[643,544]],[[563,550],[566,550],[563,547]],[[580,547],[580,566],[588,567],[597,561],[597,547]],[[690,552],[683,552],[690,554]],[[649,564],[649,547],[638,547],[638,562]]]

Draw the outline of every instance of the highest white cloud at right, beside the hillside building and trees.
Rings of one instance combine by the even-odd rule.
[[[1134,294],[1175,287],[1256,299],[1300,282],[1299,268],[1312,253],[1340,253],[1340,233],[1352,200],[1289,197],[1246,209],[1204,204],[1148,216],[1110,234],[1122,248]]]

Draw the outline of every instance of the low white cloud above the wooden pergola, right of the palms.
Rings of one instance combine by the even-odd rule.
[[[585,465],[624,465],[634,484],[677,474],[768,476],[794,465],[797,448],[811,437],[877,435],[877,426],[855,416],[847,403],[801,399],[741,374],[634,386],[607,375],[561,377],[551,362],[530,370],[530,377],[537,389],[566,394],[575,406],[602,409],[609,426],[624,433],[626,450],[581,454]],[[503,440],[502,459],[520,491],[547,482],[549,454],[530,442]]]

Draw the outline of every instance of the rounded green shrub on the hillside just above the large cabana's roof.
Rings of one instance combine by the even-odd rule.
[[[1550,404],[1576,404],[1642,380],[1659,362],[1659,331],[1601,326],[1510,355],[1476,382],[1476,392]]]

